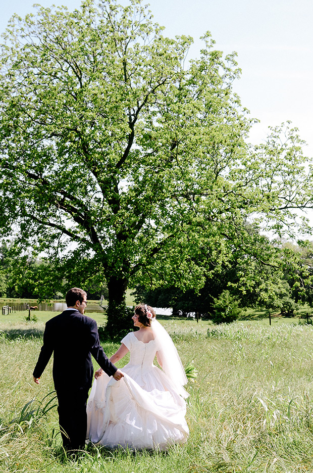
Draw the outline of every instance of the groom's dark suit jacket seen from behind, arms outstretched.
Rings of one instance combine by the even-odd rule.
[[[33,372],[36,378],[41,376],[53,352],[57,391],[91,387],[91,355],[109,376],[117,370],[100,345],[96,321],[75,309],[65,310],[46,322],[43,345]]]

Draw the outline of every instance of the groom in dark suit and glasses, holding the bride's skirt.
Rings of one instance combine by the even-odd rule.
[[[115,380],[123,373],[103,351],[95,320],[84,315],[87,294],[72,288],[66,294],[67,309],[45,324],[43,345],[35,366],[34,382],[54,352],[53,379],[58,397],[58,412],[63,446],[67,450],[84,448],[87,432],[86,405],[92,384],[91,355]]]

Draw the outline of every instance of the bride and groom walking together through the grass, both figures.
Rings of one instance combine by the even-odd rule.
[[[67,309],[46,322],[33,372],[39,384],[54,353],[53,379],[64,448],[77,451],[92,442],[107,448],[166,450],[184,443],[189,433],[188,393],[183,387],[187,378],[152,307],[135,307],[132,319],[138,330],[127,334],[109,359],[100,345],[95,320],[84,315],[86,298],[81,289],[68,291]],[[128,352],[130,360],[121,371],[114,363]],[[91,355],[100,366],[93,385]],[[155,356],[162,370],[153,364]]]

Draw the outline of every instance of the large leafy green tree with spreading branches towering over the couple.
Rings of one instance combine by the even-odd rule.
[[[106,280],[111,333],[130,282],[200,287],[201,255],[217,269],[257,252],[247,222],[282,231],[309,205],[295,131],[246,145],[235,54],[210,34],[187,64],[192,39],[164,37],[137,0],[37,8],[2,47],[0,224],[54,261],[50,278]]]

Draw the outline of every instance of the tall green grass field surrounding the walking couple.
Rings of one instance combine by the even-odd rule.
[[[165,454],[93,449],[74,460],[60,450],[51,362],[40,386],[32,381],[44,322],[55,313],[36,312],[36,322],[25,315],[0,324],[2,473],[313,471],[313,326],[291,318],[273,318],[272,326],[162,319],[183,364],[198,371],[187,385],[188,442]],[[103,323],[102,314],[94,318]],[[103,347],[111,355],[118,345]]]

